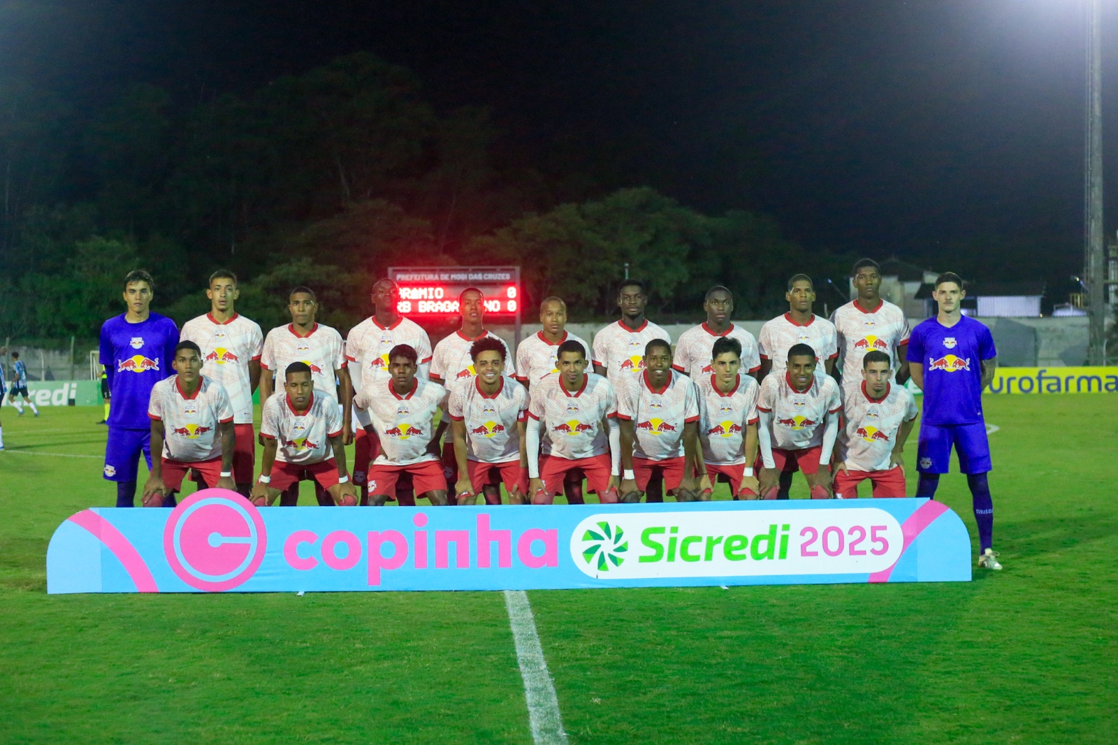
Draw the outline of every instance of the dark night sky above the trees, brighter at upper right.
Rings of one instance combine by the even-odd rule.
[[[415,70],[440,107],[490,106],[503,136],[541,158],[575,143],[612,159],[628,185],[710,213],[769,213],[808,247],[883,257],[941,246],[947,263],[946,246],[998,235],[1080,262],[1077,0],[101,0],[0,11],[18,21],[0,27],[0,64],[78,107],[141,81],[184,100],[246,92],[363,49]],[[1115,185],[1118,13],[1105,10],[1103,23]]]

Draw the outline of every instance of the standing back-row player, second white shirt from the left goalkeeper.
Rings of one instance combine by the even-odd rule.
[[[333,400],[341,400],[343,407],[342,441],[344,442],[349,438],[347,433],[350,431],[350,404],[353,395],[345,364],[342,334],[338,333],[335,329],[320,326],[315,321],[319,301],[310,287],[299,286],[291,291],[287,295],[287,311],[291,313],[291,323],[272,329],[264,339],[264,350],[260,356],[260,400],[265,402],[272,397],[273,372],[286,370],[292,362],[303,362],[311,368],[315,390],[322,392]],[[341,381],[340,398],[339,380]],[[321,482],[316,481],[316,483],[314,496],[319,503],[333,503]],[[294,506],[297,501],[299,483],[292,483],[291,488],[280,498],[280,503],[287,507]]]

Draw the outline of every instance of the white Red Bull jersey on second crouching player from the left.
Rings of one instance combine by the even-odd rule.
[[[300,414],[283,390],[264,402],[260,434],[276,441],[276,460],[313,465],[334,456],[330,437],[342,433],[338,402],[320,390],[311,392],[311,405]]]

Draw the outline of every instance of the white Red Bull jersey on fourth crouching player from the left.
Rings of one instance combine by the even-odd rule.
[[[481,378],[454,387],[447,412],[466,426],[466,458],[482,463],[520,460],[518,422],[528,419],[528,390],[503,376],[492,396],[482,392]]]

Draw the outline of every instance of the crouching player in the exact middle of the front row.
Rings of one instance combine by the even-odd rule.
[[[614,387],[586,371],[586,348],[579,342],[559,345],[558,358],[559,374],[536,384],[528,406],[528,493],[533,504],[550,504],[567,473],[578,469],[600,502],[615,503],[622,449]]]

